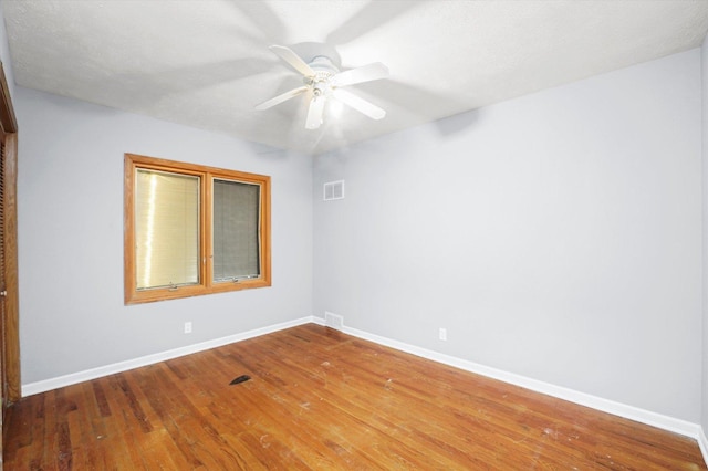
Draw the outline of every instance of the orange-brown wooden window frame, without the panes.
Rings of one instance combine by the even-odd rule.
[[[137,290],[135,250],[135,175],[137,169],[198,176],[199,188],[199,281],[194,285]],[[223,168],[186,164],[155,157],[125,154],[124,181],[124,285],[125,304],[149,303],[204,294],[266,287],[271,285],[270,177]],[[215,282],[212,244],[212,180],[225,179],[260,186],[260,275],[232,282]]]

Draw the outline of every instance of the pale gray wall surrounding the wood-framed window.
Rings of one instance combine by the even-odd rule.
[[[20,86],[13,101],[23,384],[312,315],[310,157]],[[270,175],[272,287],[124,306],[124,153]]]

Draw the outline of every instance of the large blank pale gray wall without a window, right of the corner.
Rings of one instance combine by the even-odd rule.
[[[699,422],[700,87],[696,49],[319,157],[315,315]]]

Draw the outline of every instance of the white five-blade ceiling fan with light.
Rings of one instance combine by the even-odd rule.
[[[269,49],[303,75],[304,85],[270,98],[256,106],[256,109],[268,109],[305,92],[311,92],[312,98],[305,119],[305,128],[308,129],[320,127],[324,115],[324,104],[330,98],[339,100],[372,119],[381,119],[386,116],[384,109],[342,88],[347,85],[387,77],[388,69],[381,62],[340,72],[333,61],[325,55],[316,55],[310,62],[305,62],[285,46],[271,45]]]

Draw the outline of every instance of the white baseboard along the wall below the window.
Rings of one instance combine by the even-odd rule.
[[[253,331],[248,331],[240,334],[228,335],[226,337],[216,338],[214,341],[202,342],[194,345],[187,345],[186,347],[179,347],[179,348],[175,348],[167,352],[162,352],[153,355],[143,356],[139,358],[129,359],[126,362],[114,363],[112,365],[101,366],[98,368],[92,368],[92,369],[86,369],[84,371],[72,373],[70,375],[59,376],[56,378],[45,379],[42,381],[29,383],[27,385],[22,385],[22,397],[45,393],[45,391],[61,388],[64,386],[75,385],[77,383],[88,381],[91,379],[114,375],[116,373],[127,371],[128,369],[139,368],[140,366],[154,365],[156,363],[165,362],[167,359],[190,355],[197,352],[208,350],[210,348],[220,347],[223,345],[232,344],[235,342],[246,341],[248,338],[271,334],[273,332],[282,331],[282,329],[294,327],[302,324],[309,324],[312,322],[315,322],[315,320],[312,316],[302,317],[299,320],[283,322],[283,323],[270,325],[267,327],[256,328]]]

